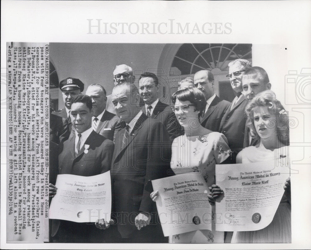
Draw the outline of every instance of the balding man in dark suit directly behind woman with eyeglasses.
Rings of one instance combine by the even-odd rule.
[[[214,75],[211,71],[200,70],[194,75],[194,85],[202,91],[206,98],[206,107],[201,125],[211,131],[218,132],[222,117],[230,106],[229,101],[221,100],[214,91]]]

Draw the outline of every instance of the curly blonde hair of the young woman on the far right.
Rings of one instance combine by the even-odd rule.
[[[276,129],[276,139],[285,145],[289,145],[289,118],[283,105],[276,99],[276,95],[271,90],[265,90],[256,95],[245,108],[247,115],[247,126],[249,127],[253,137],[259,139],[254,126],[254,108],[257,106],[265,106],[268,111],[274,116],[270,121],[271,126]]]

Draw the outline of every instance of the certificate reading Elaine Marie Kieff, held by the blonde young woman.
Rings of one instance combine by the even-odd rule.
[[[216,184],[224,191],[216,199],[216,230],[255,231],[267,227],[284,193],[287,166],[281,160],[216,165]]]

